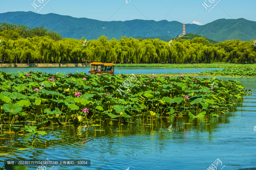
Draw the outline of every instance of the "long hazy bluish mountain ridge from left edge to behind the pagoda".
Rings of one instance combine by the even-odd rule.
[[[102,35],[109,37],[109,39],[121,39],[121,36],[176,37],[182,33],[182,23],[177,21],[131,20],[106,22],[53,13],[43,15],[34,12],[6,12],[0,14],[0,22],[26,25],[30,28],[44,26],[46,29],[59,32],[63,38],[79,40],[82,37],[87,40],[98,39]],[[186,24],[186,31],[189,32],[199,27],[201,25]]]

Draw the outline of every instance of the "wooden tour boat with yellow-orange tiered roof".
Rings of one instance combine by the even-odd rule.
[[[115,64],[113,63],[102,63],[102,62],[93,62],[91,63],[91,74],[114,74]]]

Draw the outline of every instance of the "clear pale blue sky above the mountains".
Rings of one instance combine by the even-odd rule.
[[[39,14],[57,13],[76,18],[90,18],[101,21],[126,21],[134,19],[142,20],[168,20],[185,22],[185,24],[197,22],[207,24],[214,20],[226,18],[245,18],[256,21],[255,0],[50,0],[39,12],[31,5],[33,2],[39,6],[38,1],[48,0],[0,0],[0,12],[32,11]],[[214,3],[211,3],[211,2]],[[207,9],[203,7],[203,3]],[[213,7],[214,4],[218,4]],[[208,12],[210,10],[210,12]]]

